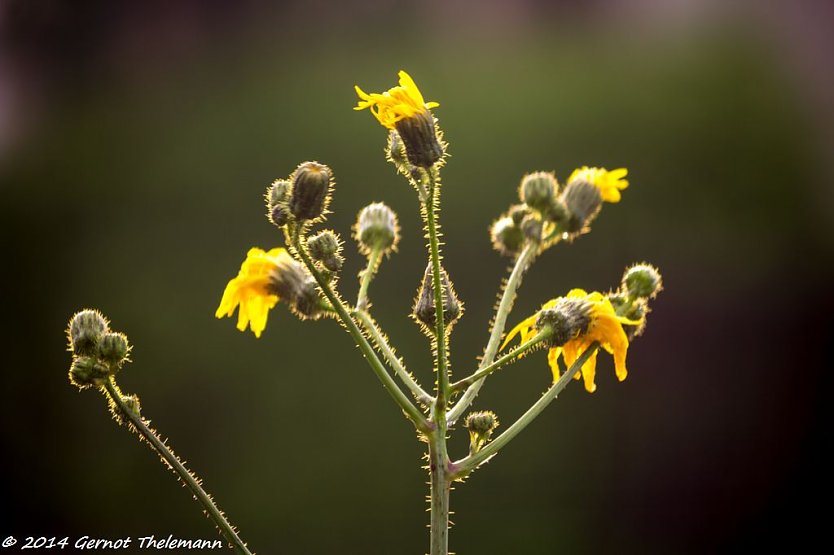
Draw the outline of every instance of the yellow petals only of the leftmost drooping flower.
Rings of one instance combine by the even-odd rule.
[[[249,326],[255,337],[260,337],[266,328],[269,309],[279,300],[278,295],[270,288],[270,275],[279,265],[288,262],[294,261],[282,248],[275,248],[269,252],[257,247],[249,249],[237,277],[232,278],[226,285],[223,299],[214,313],[215,317],[231,316],[239,305],[237,329],[245,331]]]

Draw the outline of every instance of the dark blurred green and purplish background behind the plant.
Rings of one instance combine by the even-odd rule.
[[[507,261],[486,229],[520,176],[627,166],[593,233],[548,252],[512,322],[571,287],[659,265],[666,291],[617,384],[574,386],[456,488],[459,553],[801,551],[825,532],[832,278],[832,11],[825,2],[0,3],[0,535],[214,537],[155,457],[67,383],[63,329],[98,307],[121,374],[260,553],[422,553],[421,444],[349,337],[279,306],[255,340],[213,312],[262,192],[334,169],[328,225],[384,200],[403,240],[374,311],[431,383],[407,314],[416,202],[352,86],[415,77],[449,140],[446,265],[458,376]],[[352,243],[341,282],[355,294]],[[543,354],[491,379],[505,425]],[[465,451],[460,431],[453,454]]]

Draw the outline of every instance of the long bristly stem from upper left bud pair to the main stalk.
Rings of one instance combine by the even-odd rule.
[[[409,401],[408,397],[405,396],[405,394],[397,386],[397,383],[388,374],[388,371],[385,369],[385,366],[383,366],[382,361],[379,360],[379,357],[377,357],[374,352],[373,347],[371,347],[371,344],[368,343],[367,339],[365,339],[365,336],[362,335],[362,331],[356,325],[356,322],[353,321],[353,318],[350,317],[348,309],[345,307],[342,299],[336,295],[336,293],[330,288],[327,281],[322,277],[321,273],[316,269],[310,255],[307,254],[307,251],[301,245],[297,229],[292,233],[292,244],[295,247],[295,251],[298,253],[298,256],[301,257],[301,261],[304,262],[304,265],[307,266],[307,269],[319,284],[319,288],[322,293],[324,293],[324,296],[327,297],[327,300],[330,301],[331,305],[333,305],[333,309],[336,311],[336,314],[339,316],[342,324],[344,324],[345,328],[347,328],[348,332],[353,337],[353,340],[356,341],[356,344],[359,346],[362,354],[365,355],[365,360],[368,361],[368,365],[370,365],[377,378],[379,378],[379,381],[382,382],[382,386],[400,406],[406,417],[414,423],[414,426],[416,426],[418,430],[424,433],[430,431],[432,429],[431,424],[429,424],[426,417],[423,416],[423,413],[420,412],[420,410],[414,406],[411,401]]]

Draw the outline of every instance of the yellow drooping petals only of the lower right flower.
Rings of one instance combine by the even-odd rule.
[[[585,306],[587,307],[586,314],[574,315],[571,320],[586,323],[585,329],[570,330],[570,338],[564,345],[554,345],[547,353],[547,362],[550,365],[550,370],[553,373],[553,381],[559,379],[559,365],[558,358],[562,355],[565,366],[568,368],[576,362],[576,359],[590,347],[594,341],[598,341],[600,346],[614,356],[614,367],[617,373],[617,378],[623,381],[626,378],[628,371],[626,370],[626,353],[628,351],[628,337],[623,330],[623,324],[638,325],[639,321],[629,320],[623,316],[618,316],[611,305],[608,297],[602,293],[586,293],[582,289],[573,289],[567,296],[559,297],[545,303],[541,310],[556,308],[560,303],[566,300],[580,301],[581,303],[574,303],[573,307]],[[564,303],[567,305],[567,303]],[[521,342],[524,343],[538,333],[536,329],[536,322],[539,314],[534,314],[530,318],[519,323],[513,328],[504,340],[501,346],[503,349],[516,336],[521,335]],[[576,318],[576,316],[579,316]],[[576,373],[576,378],[580,375],[585,379],[585,389],[589,393],[593,393],[596,389],[594,377],[596,374],[597,352],[582,365],[581,371]]]

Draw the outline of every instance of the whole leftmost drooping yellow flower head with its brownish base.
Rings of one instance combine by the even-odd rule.
[[[315,285],[301,264],[283,248],[266,252],[253,247],[246,254],[238,275],[226,285],[214,315],[231,316],[240,307],[237,329],[245,331],[248,326],[255,337],[260,337],[269,310],[282,298],[301,317],[318,315]]]

